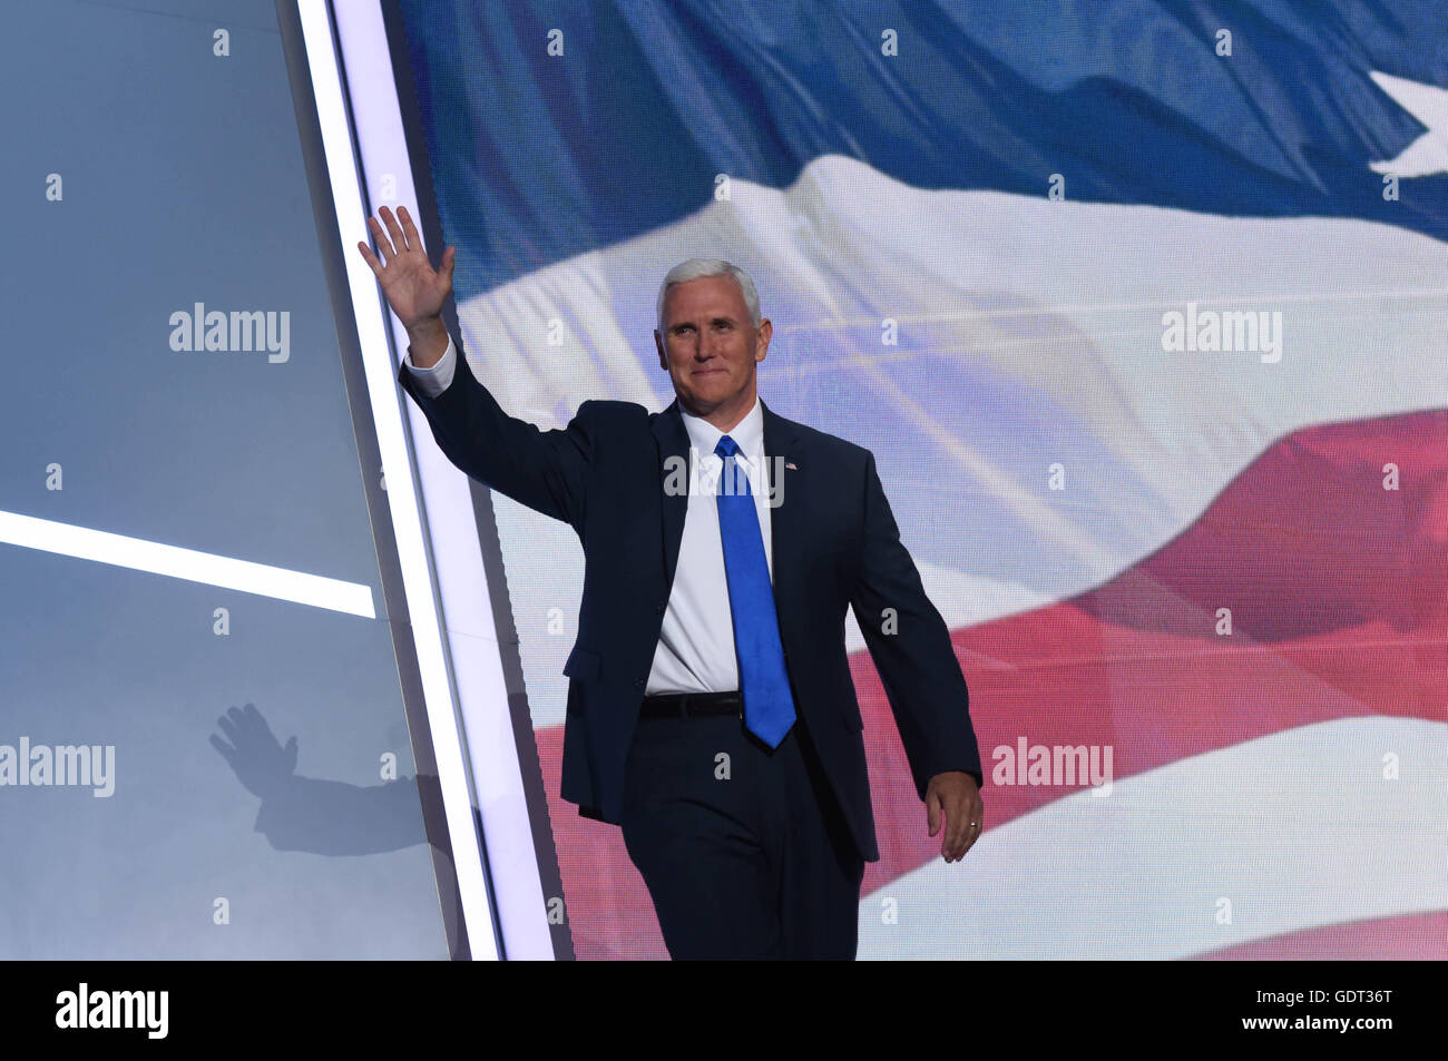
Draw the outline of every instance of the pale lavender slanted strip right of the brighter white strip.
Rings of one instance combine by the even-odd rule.
[[[342,64],[348,71],[346,90],[352,104],[353,133],[369,200],[376,206],[387,203],[392,208],[405,206],[414,219],[421,217],[381,4],[337,3],[334,17]],[[390,194],[384,195],[384,191]],[[361,266],[366,278],[366,287],[372,291],[368,305],[376,305],[376,281],[355,246],[358,239],[371,243],[365,214],[358,213],[348,220],[352,223],[342,224],[343,252]],[[356,236],[348,237],[353,229]],[[356,304],[362,305],[361,301]],[[392,313],[385,308],[384,313],[392,326],[397,349],[405,352],[407,331]],[[395,366],[391,360],[387,363],[395,376]],[[388,384],[388,394],[395,395],[395,378],[390,378]],[[553,937],[513,734],[488,576],[478,544],[472,488],[468,476],[434,444],[427,418],[416,402],[408,400],[404,405],[413,428],[417,475],[427,511],[426,533],[439,573],[437,593],[452,648],[453,680],[487,838],[488,871],[504,951],[508,958],[552,960]]]

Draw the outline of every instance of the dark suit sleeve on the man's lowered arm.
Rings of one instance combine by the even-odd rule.
[[[880,673],[919,798],[930,779],[947,770],[963,770],[980,785],[966,679],[946,621],[901,544],[873,453],[864,470],[864,540],[850,606]],[[886,609],[893,609],[893,624],[888,625]]]

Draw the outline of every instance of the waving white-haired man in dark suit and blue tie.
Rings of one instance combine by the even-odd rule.
[[[405,208],[381,217],[382,261],[358,248],[411,340],[398,382],[459,469],[584,546],[563,798],[623,828],[675,958],[853,958],[879,850],[846,608],[947,861],[983,811],[966,682],[873,455],[759,400],[772,326],[749,276],[710,259],[660,285],[663,413],[510,417],[439,316],[453,248],[433,269]]]

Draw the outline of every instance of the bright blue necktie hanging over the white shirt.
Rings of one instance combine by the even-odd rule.
[[[779,618],[775,615],[775,592],[769,585],[765,537],[759,530],[759,512],[754,511],[749,476],[734,460],[738,443],[725,434],[714,453],[724,459],[717,502],[720,538],[724,543],[724,576],[728,580],[728,604],[734,620],[734,651],[738,656],[738,685],[744,695],[744,725],[773,748],[795,724],[795,699],[785,672],[785,648],[779,643]],[[737,479],[727,488],[731,469]]]

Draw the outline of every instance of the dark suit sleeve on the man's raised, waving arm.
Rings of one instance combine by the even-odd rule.
[[[585,401],[566,428],[543,431],[504,413],[456,346],[452,384],[437,397],[426,394],[405,363],[397,376],[427,415],[437,447],[471,478],[582,536],[597,437],[594,402]]]

